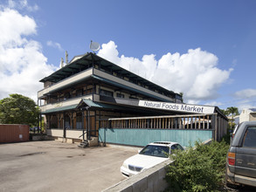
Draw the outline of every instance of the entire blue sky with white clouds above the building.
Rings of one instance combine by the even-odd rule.
[[[102,45],[97,52],[101,57],[183,92],[188,103],[240,110],[256,106],[256,1],[0,0],[0,4],[1,28],[6,25],[5,31],[0,29],[5,34],[0,51],[9,52],[2,57],[0,53],[0,78],[6,79],[0,99],[10,93],[36,99],[43,88],[38,80],[59,68],[65,51],[71,60],[90,51],[93,40]],[[17,70],[9,70],[10,66]],[[27,75],[30,72],[34,74]]]

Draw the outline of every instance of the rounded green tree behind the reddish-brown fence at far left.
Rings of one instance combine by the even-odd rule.
[[[21,94],[9,96],[0,100],[0,123],[37,125],[39,107],[35,101]]]

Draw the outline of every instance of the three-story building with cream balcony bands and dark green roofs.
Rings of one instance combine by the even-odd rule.
[[[41,79],[38,92],[47,134],[82,140],[98,136],[100,120],[171,114],[139,106],[139,100],[182,103],[178,93],[135,75],[89,52]]]

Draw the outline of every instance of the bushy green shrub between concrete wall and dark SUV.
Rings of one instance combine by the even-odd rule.
[[[223,183],[229,146],[225,141],[209,145],[197,141],[195,147],[172,155],[175,161],[167,167],[165,177],[168,191],[216,191]]]

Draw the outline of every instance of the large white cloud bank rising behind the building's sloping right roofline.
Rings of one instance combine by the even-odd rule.
[[[218,88],[232,72],[219,69],[217,56],[200,48],[185,54],[168,52],[157,61],[153,54],[142,59],[119,57],[117,45],[110,41],[102,45],[98,55],[169,90],[183,92],[185,101],[192,103],[218,98]]]

